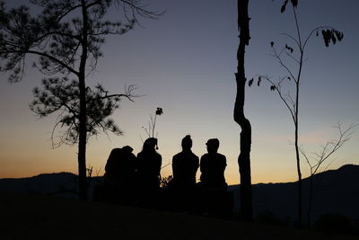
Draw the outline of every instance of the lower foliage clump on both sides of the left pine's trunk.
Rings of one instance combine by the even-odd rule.
[[[109,116],[118,109],[118,103],[121,98],[127,98],[133,102],[136,97],[136,87],[129,85],[126,93],[109,94],[101,84],[97,84],[94,89],[86,88],[86,137],[87,139],[96,136],[101,132],[108,134],[112,132],[116,135],[122,135],[122,131]],[[31,111],[36,112],[40,118],[59,111],[57,123],[52,130],[51,139],[53,147],[59,147],[62,144],[73,145],[79,138],[79,85],[75,80],[69,80],[66,76],[59,78],[42,79],[42,89],[35,87],[33,95],[35,100],[31,102]],[[57,128],[65,131],[60,134],[59,139],[55,141],[55,130]]]

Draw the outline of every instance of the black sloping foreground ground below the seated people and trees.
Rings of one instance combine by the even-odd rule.
[[[218,218],[0,193],[0,239],[355,239]]]

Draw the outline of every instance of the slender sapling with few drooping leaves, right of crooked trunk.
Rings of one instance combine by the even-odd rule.
[[[337,41],[343,39],[344,34],[341,31],[330,26],[320,26],[314,28],[309,32],[309,34],[303,38],[302,31],[300,29],[300,24],[297,17],[297,7],[298,1],[291,0],[291,6],[293,10],[293,18],[295,21],[295,31],[296,35],[290,35],[288,33],[282,33],[285,37],[292,41],[292,44],[286,43],[280,50],[276,49],[276,43],[274,41],[270,42],[270,48],[272,49],[272,56],[276,58],[279,65],[285,69],[286,76],[280,77],[277,81],[272,80],[268,76],[258,76],[259,85],[262,80],[266,80],[270,84],[270,90],[278,93],[282,102],[285,103],[285,107],[290,112],[290,115],[294,124],[294,146],[295,146],[295,159],[296,159],[296,168],[298,175],[298,224],[302,226],[302,171],[301,171],[301,159],[300,159],[300,147],[299,147],[299,104],[300,104],[300,86],[302,84],[302,67],[304,62],[304,53],[308,41],[315,34],[319,36],[320,33],[323,37],[326,47],[329,46],[329,43],[335,44]],[[281,7],[281,13],[284,13],[286,6],[289,4],[289,0],[285,0]],[[292,67],[288,61],[293,60],[294,67]],[[250,79],[249,85],[253,84],[254,79]],[[293,84],[294,93],[288,93],[282,88],[282,86],[287,84]]]

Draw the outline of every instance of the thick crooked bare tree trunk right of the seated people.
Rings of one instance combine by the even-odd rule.
[[[240,45],[237,51],[238,67],[236,77],[237,95],[234,103],[233,118],[241,126],[241,153],[238,156],[238,164],[241,174],[241,218],[251,220],[252,189],[250,180],[250,145],[251,127],[250,120],[244,116],[245,85],[247,82],[244,71],[244,55],[246,45],[250,44],[250,18],[248,16],[249,0],[238,0],[238,30],[240,34]]]

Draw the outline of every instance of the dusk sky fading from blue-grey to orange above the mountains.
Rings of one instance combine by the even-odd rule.
[[[8,6],[24,1],[5,1]],[[269,56],[269,42],[286,40],[281,32],[295,33],[290,11],[280,13],[283,1],[250,0],[250,46],[246,75],[283,74]],[[121,102],[112,116],[124,135],[101,135],[87,147],[87,164],[94,175],[103,174],[113,147],[129,145],[137,154],[142,148],[149,115],[156,107],[164,114],[157,120],[162,165],[180,152],[180,140],[190,134],[197,156],[206,153],[206,140],[219,138],[219,152],[227,157],[226,179],[239,182],[237,156],[240,127],[232,120],[237,60],[236,0],[148,0],[151,9],[165,10],[159,20],[141,20],[142,25],[122,36],[107,38],[97,71],[87,84],[103,84],[111,93],[123,93],[125,84],[136,84],[144,94],[136,102]],[[300,140],[307,151],[335,138],[332,126],[359,122],[359,1],[302,0],[298,18],[302,34],[320,25],[344,31],[345,38],[326,48],[321,38],[312,38],[303,67],[300,105]],[[113,17],[117,15],[112,13]],[[31,89],[42,76],[28,64],[21,83],[8,84],[0,75],[0,178],[39,173],[77,173],[77,146],[51,148],[51,130],[56,115],[39,119],[29,109]],[[295,181],[293,122],[276,93],[267,84],[246,89],[245,111],[252,124],[252,182]],[[337,152],[328,167],[359,164],[359,134]],[[328,162],[328,164],[329,164]],[[303,176],[308,166],[302,163]],[[162,176],[171,174],[171,165]]]

